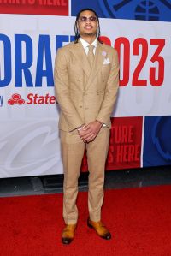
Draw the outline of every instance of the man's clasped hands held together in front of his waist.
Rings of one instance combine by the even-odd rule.
[[[79,130],[80,139],[84,142],[91,142],[94,140],[102,128],[102,123],[94,121],[90,122],[85,126],[85,128],[81,128]]]

